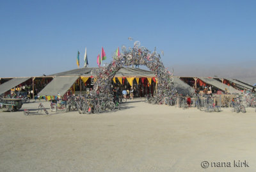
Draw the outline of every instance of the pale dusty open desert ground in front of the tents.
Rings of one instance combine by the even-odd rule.
[[[1,112],[0,171],[256,170],[254,109],[204,113],[139,99],[123,106],[100,114]],[[207,169],[201,167],[204,160],[210,162]],[[250,167],[235,168],[234,160]],[[232,167],[212,168],[211,162]]]

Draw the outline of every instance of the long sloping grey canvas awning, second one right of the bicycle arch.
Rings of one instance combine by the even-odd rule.
[[[235,88],[232,88],[232,86],[228,86],[226,84],[221,83],[220,81],[216,81],[213,78],[210,77],[198,77],[198,79],[202,80],[203,82],[210,84],[212,86],[215,86],[216,88],[219,88],[222,91],[225,91],[227,88],[228,93],[241,93],[241,91],[236,90]]]

